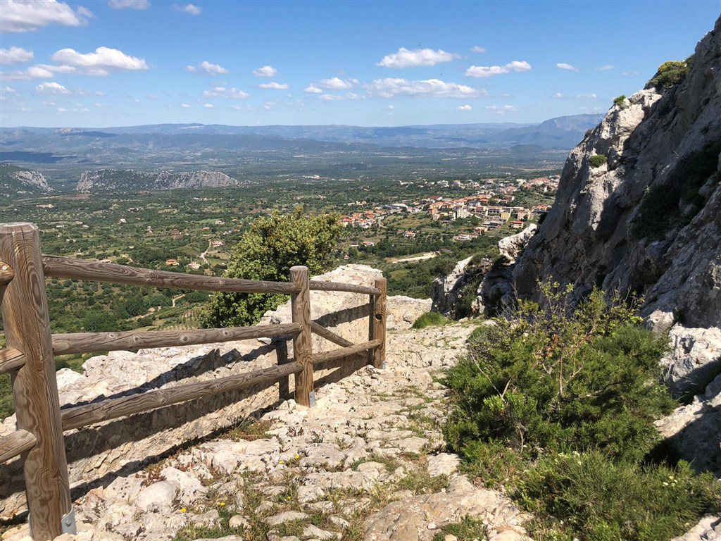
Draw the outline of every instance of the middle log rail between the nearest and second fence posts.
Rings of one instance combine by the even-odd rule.
[[[92,353],[95,351],[131,350],[140,348],[169,348],[193,344],[229,342],[249,338],[273,338],[298,334],[301,325],[258,325],[257,327],[227,327],[225,329],[146,330],[123,333],[69,333],[53,335],[53,352]]]

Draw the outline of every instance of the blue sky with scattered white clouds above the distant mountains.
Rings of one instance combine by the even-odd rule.
[[[533,123],[603,113],[721,0],[0,0],[0,127]]]

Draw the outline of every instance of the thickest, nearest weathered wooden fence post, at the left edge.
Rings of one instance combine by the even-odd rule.
[[[0,260],[14,271],[1,304],[7,347],[25,356],[13,378],[17,428],[37,439],[24,467],[30,531],[48,540],[75,524],[37,226],[0,224]]]

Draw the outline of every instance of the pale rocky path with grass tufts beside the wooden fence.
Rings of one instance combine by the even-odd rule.
[[[443,452],[446,390],[435,381],[473,327],[389,334],[387,369],[366,367],[257,421],[185,449],[74,503],[77,535],[99,540],[489,541],[527,539],[528,518]],[[473,535],[473,534],[472,534]],[[27,527],[4,541],[27,541]],[[472,538],[472,537],[470,537]]]

